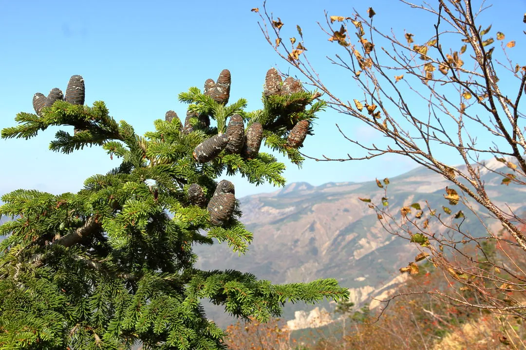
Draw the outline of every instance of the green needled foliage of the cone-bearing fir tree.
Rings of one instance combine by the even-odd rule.
[[[250,273],[194,268],[193,245],[217,239],[241,254],[252,241],[238,220],[237,200],[221,226],[210,219],[206,204],[218,177],[239,173],[256,185],[285,184],[285,165],[272,154],[249,158],[224,150],[199,163],[196,147],[224,134],[239,114],[247,127],[261,124],[267,146],[300,165],[303,158],[287,137],[301,120],[312,133],[311,121],[325,107],[314,101],[318,95],[264,94],[264,109],[247,112],[244,99],[224,105],[228,94],[218,102],[190,88],[179,99],[215,126],[191,118],[190,130],[178,118],[158,119],[155,131],[139,136],[113,119],[104,102],[71,104],[67,94],[49,107],[39,102],[38,115],[18,113],[18,125],[2,137],[29,139],[49,126],[73,126],[73,135],[58,131],[49,149],[69,154],[100,146],[121,163],[87,178],[78,193],[18,189],[2,197],[0,215],[12,220],[0,226],[6,237],[0,242],[0,349],[128,349],[139,341],[145,349],[226,349],[227,334],[207,320],[201,299],[234,317],[266,322],[286,302],[348,297],[335,279],[274,285]]]

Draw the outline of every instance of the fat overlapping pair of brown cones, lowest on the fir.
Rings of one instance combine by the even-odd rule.
[[[221,180],[207,206],[211,224],[224,225],[234,213],[235,207],[234,184],[228,180]]]

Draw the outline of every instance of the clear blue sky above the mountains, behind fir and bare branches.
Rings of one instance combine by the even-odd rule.
[[[489,23],[504,33],[521,33],[524,28],[518,26],[526,12],[525,2],[505,3],[491,10]],[[351,16],[352,7],[365,13],[369,6],[375,8],[377,22],[399,33],[411,26],[413,31],[424,25],[432,29],[432,24],[412,16],[414,10],[395,0],[267,2],[267,8],[285,23],[284,29],[301,25],[306,44],[312,43],[309,57],[318,66],[329,66],[325,49],[336,45],[327,42],[316,24],[324,20],[323,10]],[[286,71],[289,66],[266,42],[252,7],[261,8],[262,1],[0,0],[0,127],[14,125],[17,112],[32,112],[35,92],[47,96],[54,87],[65,91],[69,77],[77,74],[85,80],[86,104],[105,101],[116,120],[128,121],[139,133],[153,130],[152,122],[163,119],[167,110],[184,118],[186,105],[178,102],[178,93],[191,86],[202,89],[207,78],[217,79],[224,68],[232,75],[230,101],[243,97],[249,109],[258,109],[266,71],[273,66]],[[515,13],[521,18],[510,22]],[[524,52],[522,47],[516,50]],[[349,93],[349,100],[359,93],[350,77],[327,73],[325,81]],[[302,149],[308,155],[339,157],[352,150],[335,123],[350,137],[376,140],[377,135],[348,116],[327,110],[319,117],[316,135],[309,136]],[[88,176],[119,164],[98,147],[76,155],[50,152],[48,144],[55,132],[47,130],[29,141],[0,140],[5,164],[0,194],[16,188],[56,194],[76,191]],[[321,185],[394,176],[412,167],[409,160],[390,156],[359,163],[307,160],[302,169],[288,165],[284,175],[289,182]],[[238,197],[274,190],[241,178],[235,185]]]

